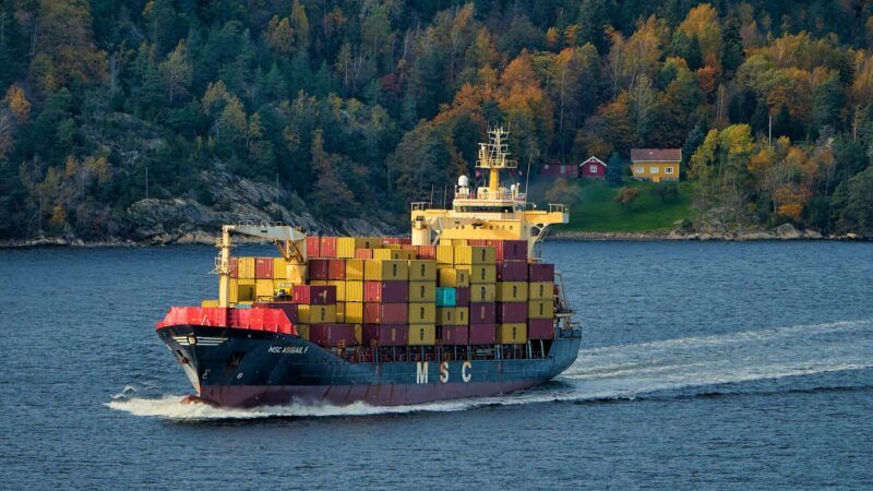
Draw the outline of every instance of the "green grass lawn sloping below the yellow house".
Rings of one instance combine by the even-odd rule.
[[[579,179],[571,185],[578,193],[578,201],[571,208],[570,224],[555,230],[647,232],[669,230],[677,220],[691,218],[690,182],[679,183],[678,200],[661,203],[650,190],[662,184],[626,180],[625,187],[641,191],[639,197],[627,207],[612,201],[619,188],[610,188],[602,181]]]

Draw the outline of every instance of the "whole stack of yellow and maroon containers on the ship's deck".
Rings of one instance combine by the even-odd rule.
[[[554,267],[528,263],[523,240],[309,237],[307,254],[302,270],[282,258],[235,258],[231,302],[282,308],[301,335],[332,347],[519,345],[554,335]]]

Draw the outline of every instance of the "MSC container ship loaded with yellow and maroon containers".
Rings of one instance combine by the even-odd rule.
[[[407,238],[225,225],[218,298],[157,323],[196,393],[184,400],[412,405],[524,390],[570,367],[581,327],[561,274],[540,260],[569,212],[505,185],[517,168],[505,136],[489,130],[451,208],[411,204]],[[279,256],[232,258],[235,235],[273,241]]]

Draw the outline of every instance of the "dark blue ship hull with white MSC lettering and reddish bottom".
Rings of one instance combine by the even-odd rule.
[[[361,362],[292,334],[199,325],[158,330],[200,399],[224,407],[396,406],[506,394],[548,382],[575,361],[578,331],[558,334],[543,358]]]

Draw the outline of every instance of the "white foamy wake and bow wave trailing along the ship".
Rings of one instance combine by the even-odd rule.
[[[549,402],[600,402],[743,393],[754,381],[802,378],[873,368],[873,320],[762,328],[711,336],[582,349],[578,360],[554,382],[499,397],[416,406],[259,407],[229,409],[180,404],[182,395],[140,397],[130,387],[106,405],[135,416],[172,420],[349,417],[422,411],[458,411],[483,406]],[[788,391],[790,388],[785,388]]]

